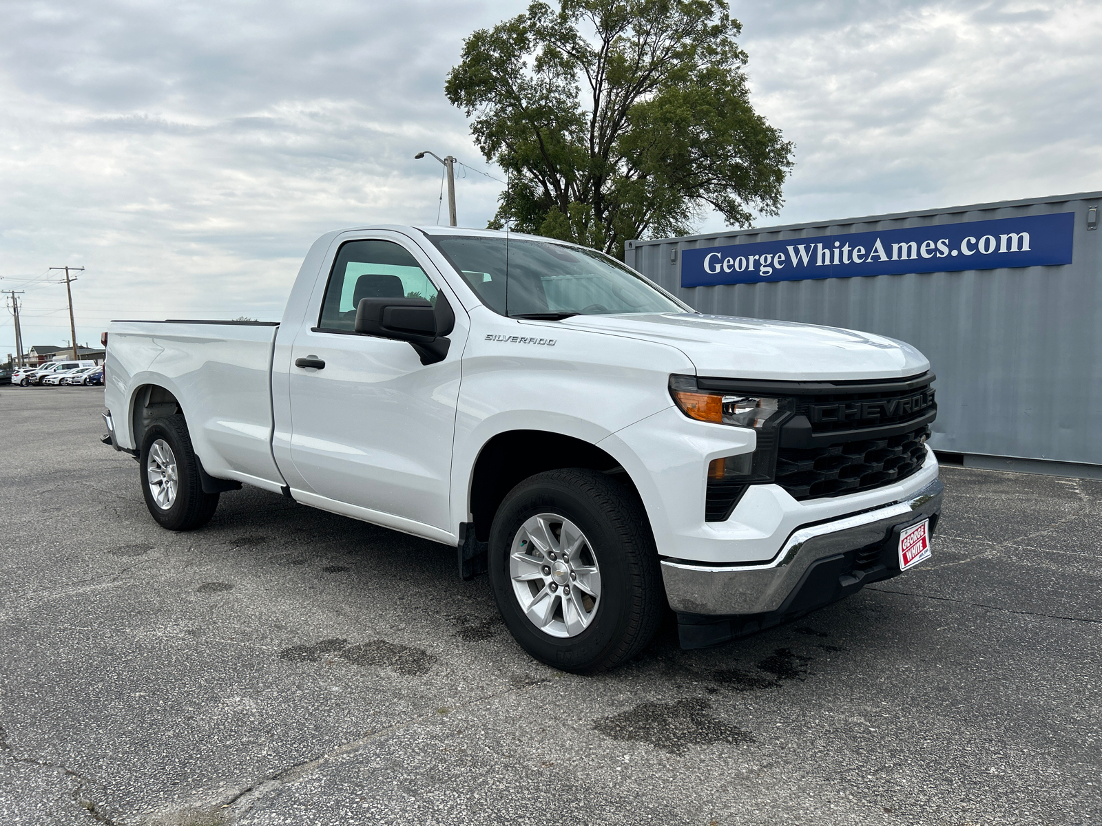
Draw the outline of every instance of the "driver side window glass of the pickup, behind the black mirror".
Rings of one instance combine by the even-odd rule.
[[[440,291],[409,250],[393,241],[346,241],[337,250],[317,326],[350,333],[360,298],[424,298]]]

